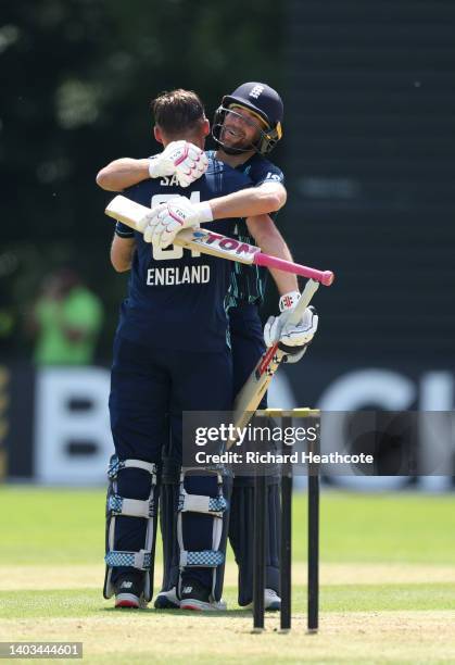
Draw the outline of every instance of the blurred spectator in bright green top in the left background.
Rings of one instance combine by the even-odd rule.
[[[75,272],[62,268],[52,273],[45,279],[31,313],[35,364],[90,364],[102,322],[100,299]]]

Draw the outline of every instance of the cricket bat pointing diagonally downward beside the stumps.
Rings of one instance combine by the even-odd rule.
[[[295,309],[290,314],[290,323],[298,323],[301,321],[304,311],[318,288],[319,284],[315,279],[308,279]],[[279,349],[278,344],[274,344],[265,351],[243,388],[236,397],[233,404],[235,427],[245,427],[248,425],[285,355],[286,352]],[[229,441],[228,448],[230,448],[232,443],[233,441]]]

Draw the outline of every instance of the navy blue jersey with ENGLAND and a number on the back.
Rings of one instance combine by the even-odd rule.
[[[175,176],[148,179],[123,193],[148,208],[182,195],[192,202],[222,197],[252,186],[244,173],[210,158],[204,176],[180,188]],[[232,236],[237,219],[207,224]],[[226,348],[228,318],[225,299],[231,262],[172,246],[165,250],[143,241],[142,235],[117,223],[121,237],[135,237],[136,251],[128,297],[121,308],[117,332],[154,348],[215,352]]]

